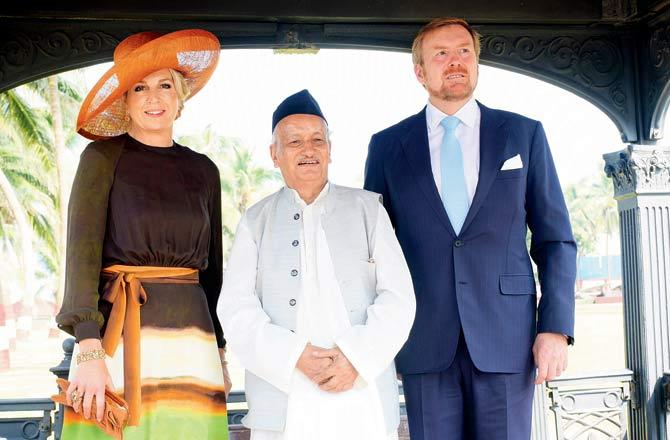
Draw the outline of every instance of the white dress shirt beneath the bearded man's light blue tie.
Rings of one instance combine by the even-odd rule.
[[[428,148],[430,150],[430,166],[433,170],[433,178],[437,191],[442,195],[442,173],[440,171],[440,147],[444,137],[444,128],[440,125],[442,119],[446,118],[443,113],[430,101],[426,106],[426,123],[428,126]],[[461,107],[455,116],[461,123],[456,127],[456,139],[461,144],[463,151],[463,172],[465,174],[465,186],[468,189],[470,204],[475,197],[477,182],[479,181],[479,125],[481,122],[481,110],[477,101],[472,97]]]

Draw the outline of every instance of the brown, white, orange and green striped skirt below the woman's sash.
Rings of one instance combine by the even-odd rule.
[[[148,299],[140,312],[141,419],[139,426],[125,428],[124,439],[227,440],[223,372],[202,287],[149,281],[143,285]],[[109,308],[101,301],[103,314]],[[106,362],[116,391],[123,395],[123,341]],[[73,361],[70,379],[76,371]],[[68,407],[61,438],[110,437]]]

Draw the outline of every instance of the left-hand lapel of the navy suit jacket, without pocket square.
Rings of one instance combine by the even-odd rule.
[[[409,163],[410,170],[421,189],[428,199],[435,215],[437,215],[445,228],[451,234],[456,235],[454,228],[449,222],[447,212],[444,210],[440,193],[435,186],[435,178],[430,165],[430,150],[428,148],[428,127],[426,125],[426,109],[414,116],[412,126],[407,135],[401,140],[402,148]]]

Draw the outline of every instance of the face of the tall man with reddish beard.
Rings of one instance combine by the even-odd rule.
[[[467,29],[450,25],[431,31],[423,39],[421,54],[423,64],[415,65],[414,73],[431,97],[458,102],[472,96],[479,68]]]

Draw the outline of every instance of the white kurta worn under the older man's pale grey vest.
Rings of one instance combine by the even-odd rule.
[[[254,294],[258,251],[245,223],[246,217],[238,226],[218,313],[229,346],[244,367],[288,395],[284,432],[254,429],[252,440],[397,438],[397,433],[386,433],[375,384],[379,373],[374,373],[381,372],[385,366],[378,365],[380,359],[375,355],[374,347],[383,347],[387,340],[398,339],[397,319],[394,320],[392,311],[414,314],[409,271],[388,215],[380,209],[377,238],[371,250],[374,260],[371,261],[376,261],[377,290],[381,292],[378,298],[382,300],[375,300],[375,305],[368,308],[366,325],[351,326],[321,224],[323,199],[329,186],[326,184],[310,205],[291,190],[303,207],[300,237],[303,276],[295,333],[273,324],[263,311]],[[403,332],[401,334],[405,334]],[[295,368],[307,342],[324,348],[340,347],[361,373],[352,390],[342,393],[322,391]],[[395,344],[401,345],[402,341],[395,341]]]

